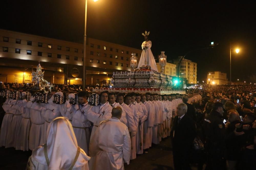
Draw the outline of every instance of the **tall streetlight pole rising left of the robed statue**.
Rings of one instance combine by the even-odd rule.
[[[85,0],[84,14],[84,36],[83,36],[83,90],[86,84],[86,20],[87,20],[87,0]]]

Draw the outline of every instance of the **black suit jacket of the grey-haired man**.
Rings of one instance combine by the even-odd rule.
[[[196,126],[193,119],[185,114],[178,123],[178,116],[175,116],[172,137],[173,150],[188,151],[192,149],[196,137]]]

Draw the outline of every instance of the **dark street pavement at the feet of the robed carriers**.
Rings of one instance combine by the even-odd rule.
[[[28,157],[32,151],[20,151],[14,148],[0,148],[0,169],[16,170],[25,169]],[[196,165],[191,165],[196,170]],[[137,155],[137,158],[125,164],[125,170],[172,170],[173,154],[170,137],[163,139],[159,145],[152,145],[148,153]]]

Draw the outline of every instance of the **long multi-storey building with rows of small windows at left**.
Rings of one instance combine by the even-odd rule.
[[[87,38],[86,84],[110,84],[113,72],[130,71],[139,49]],[[38,65],[55,84],[82,84],[83,44],[0,29],[0,81],[30,83]]]

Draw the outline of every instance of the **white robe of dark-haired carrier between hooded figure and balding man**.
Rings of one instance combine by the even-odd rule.
[[[89,143],[90,143],[90,130],[91,122],[88,120],[88,110],[91,106],[87,103],[81,106],[76,104],[74,106],[74,113],[72,117],[72,126],[74,134],[77,138],[78,146],[80,146],[84,152],[89,154]]]

